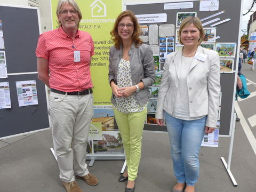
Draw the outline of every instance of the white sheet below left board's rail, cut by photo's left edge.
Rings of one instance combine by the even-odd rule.
[[[0,109],[11,108],[10,88],[8,82],[0,83]]]

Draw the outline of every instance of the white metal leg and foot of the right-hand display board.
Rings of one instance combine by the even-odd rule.
[[[235,135],[235,124],[236,124],[236,113],[233,114],[233,121],[232,121],[232,126],[231,126],[231,139],[230,139],[230,145],[229,145],[229,154],[228,154],[228,164],[226,163],[224,157],[221,157],[221,161],[223,165],[225,166],[230,179],[233,182],[233,185],[237,187],[237,182],[233,176],[233,174],[230,171],[230,164],[231,164],[231,156],[232,156],[232,150],[233,150],[233,143],[234,143],[234,135]]]

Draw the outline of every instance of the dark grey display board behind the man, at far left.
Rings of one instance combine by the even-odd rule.
[[[45,86],[37,79],[38,19],[35,7],[0,5],[0,74],[7,70],[0,78],[0,138],[49,128]]]

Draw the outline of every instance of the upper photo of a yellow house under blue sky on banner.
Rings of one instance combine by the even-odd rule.
[[[112,109],[94,109],[92,122],[100,122],[102,131],[119,131]]]

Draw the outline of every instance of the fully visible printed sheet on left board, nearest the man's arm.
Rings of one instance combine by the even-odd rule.
[[[36,81],[16,82],[19,107],[38,105]]]

